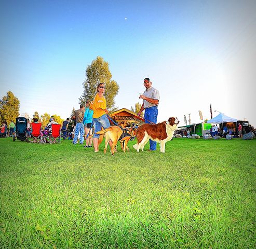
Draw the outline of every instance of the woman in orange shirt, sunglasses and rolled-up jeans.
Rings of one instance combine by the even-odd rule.
[[[105,92],[105,84],[100,83],[97,87],[97,94],[95,95],[95,98],[92,103],[92,109],[93,109],[93,125],[95,129],[95,133],[93,135],[93,147],[94,151],[99,151],[99,134],[96,134],[96,132],[100,131],[103,127],[104,129],[110,127],[110,121],[107,118],[106,114],[109,113],[109,111],[106,109],[106,100],[103,96]],[[112,145],[112,141],[110,141],[110,146]]]

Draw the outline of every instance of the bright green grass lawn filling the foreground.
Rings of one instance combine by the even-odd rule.
[[[256,139],[134,143],[0,139],[0,248],[256,247]]]

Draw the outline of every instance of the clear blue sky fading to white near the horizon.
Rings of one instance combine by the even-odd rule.
[[[256,126],[255,1],[1,1],[0,98],[20,114],[69,117],[86,67],[109,62],[130,108],[149,77],[160,92],[158,121],[209,107]],[[214,114],[213,114],[214,115]],[[217,113],[215,113],[217,115]],[[215,116],[214,115],[214,116]]]

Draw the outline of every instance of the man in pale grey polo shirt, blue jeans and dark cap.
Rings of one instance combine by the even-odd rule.
[[[144,119],[145,123],[156,123],[158,115],[159,92],[152,87],[152,82],[149,78],[144,79],[144,87],[146,90],[140,95],[139,99],[143,99],[143,104],[140,108],[138,116],[141,115],[145,109]],[[150,150],[156,150],[156,142],[150,140]]]

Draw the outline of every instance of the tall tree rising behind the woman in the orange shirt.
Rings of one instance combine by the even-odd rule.
[[[111,78],[112,74],[109,70],[109,63],[98,56],[86,68],[86,79],[83,82],[85,90],[79,98],[79,104],[85,104],[86,100],[93,100],[97,92],[98,84],[104,83],[106,86],[106,108],[111,112],[115,108],[115,96],[119,91],[117,82]]]

